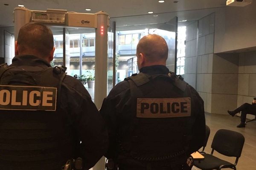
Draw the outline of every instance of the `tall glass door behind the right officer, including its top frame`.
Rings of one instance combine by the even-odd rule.
[[[161,17],[160,14],[111,19],[112,22],[116,22],[116,84],[123,81],[125,77],[139,72],[136,48],[139,40],[148,34],[157,34],[166,40],[169,48],[166,67],[170,71],[176,72],[177,17],[173,16],[174,14],[161,15],[170,15],[172,19],[168,21],[161,20],[161,23],[155,23],[155,18]],[[125,20],[134,20],[134,25],[127,26]],[[140,20],[140,22],[136,20]]]

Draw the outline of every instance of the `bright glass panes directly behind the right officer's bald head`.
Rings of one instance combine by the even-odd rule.
[[[175,70],[175,28],[173,26],[165,26],[162,29],[157,26],[148,29],[144,26],[144,29],[139,30],[116,31],[116,84],[123,81],[125,77],[139,73],[136,48],[139,40],[148,34],[158,34],[166,40],[169,48],[166,66],[170,71]]]

